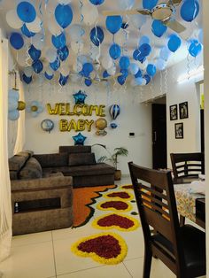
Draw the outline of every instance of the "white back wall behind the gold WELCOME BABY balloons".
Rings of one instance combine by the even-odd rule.
[[[63,89],[57,82],[35,81],[32,85],[25,86],[26,102],[29,104],[32,100],[39,100],[45,104],[55,103],[70,103],[74,104],[73,94],[79,89],[79,85],[67,84]],[[133,89],[118,87],[115,85],[108,92],[106,85],[94,85],[89,88],[84,88],[88,97],[86,104],[105,104],[105,119],[108,122],[106,128],[107,135],[97,136],[95,125],[93,124],[91,132],[87,130],[81,132],[82,135],[87,136],[85,145],[92,145],[94,143],[103,143],[112,151],[115,147],[124,146],[128,149],[128,158],[120,158],[119,168],[122,174],[128,174],[128,161],[133,160],[143,166],[151,166],[151,106],[147,104],[139,104],[139,93]],[[111,117],[108,112],[108,107],[111,104],[120,105],[120,115],[115,120],[118,124],[116,129],[109,127]],[[92,116],[90,119],[97,120],[97,116]],[[54,129],[49,133],[44,132],[41,128],[41,122],[44,119],[53,120],[55,123]],[[88,119],[84,116],[58,116],[49,115],[44,109],[37,118],[32,118],[26,113],[26,150],[33,150],[35,153],[53,153],[58,152],[59,145],[74,145],[72,136],[77,132],[60,132],[58,122],[60,119]],[[129,132],[135,132],[134,138],[129,138]],[[100,155],[106,155],[104,149],[101,147],[93,147],[97,158]]]

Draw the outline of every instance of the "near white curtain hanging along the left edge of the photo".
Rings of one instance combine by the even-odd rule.
[[[0,261],[10,254],[12,241],[11,183],[8,167],[8,41],[0,33]]]

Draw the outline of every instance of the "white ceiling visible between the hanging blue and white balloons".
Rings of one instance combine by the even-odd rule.
[[[67,66],[69,66],[69,70],[70,72],[74,71],[74,65],[77,62],[77,53],[74,53],[73,50],[71,50],[71,43],[72,43],[72,39],[69,35],[69,29],[70,27],[72,27],[72,25],[74,24],[81,24],[82,28],[85,30],[85,34],[82,35],[82,41],[84,43],[84,48],[83,50],[79,53],[79,55],[84,54],[86,56],[90,56],[91,50],[92,50],[92,42],[90,42],[90,38],[89,38],[89,32],[90,30],[95,27],[95,26],[99,26],[102,27],[104,30],[104,41],[101,43],[101,48],[100,48],[100,57],[98,58],[98,60],[101,62],[102,58],[108,53],[109,51],[109,47],[112,44],[112,40],[113,40],[113,36],[112,34],[106,29],[105,27],[105,19],[106,17],[104,17],[103,15],[103,11],[115,11],[115,10],[120,10],[120,2],[122,0],[105,0],[104,4],[101,5],[97,5],[97,10],[98,10],[98,18],[97,18],[97,22],[92,25],[92,26],[87,26],[84,21],[82,20],[82,16],[81,16],[81,6],[84,6],[86,4],[89,4],[89,0],[72,0],[70,5],[72,7],[72,10],[74,12],[74,19],[72,21],[72,23],[70,24],[69,27],[66,27],[65,32],[66,32],[66,46],[69,48],[70,54],[69,57],[66,59],[65,65],[67,64]],[[20,32],[19,29],[12,29],[11,27],[9,27],[9,25],[6,22],[5,19],[5,14],[6,12],[12,10],[12,9],[16,9],[17,4],[19,4],[19,2],[22,2],[20,0],[0,0],[0,18],[1,18],[1,22],[0,22],[0,27],[2,25],[2,27],[4,28],[7,36],[9,37],[10,34],[12,32]],[[55,7],[58,5],[58,0],[30,0],[28,1],[31,4],[34,4],[35,6],[35,10],[36,10],[36,14],[37,16],[42,20],[43,22],[43,29],[42,29],[42,33],[45,36],[45,45],[43,47],[42,50],[42,56],[41,56],[41,60],[43,61],[43,65],[44,65],[44,69],[49,66],[49,62],[46,60],[45,55],[46,55],[46,51],[49,48],[53,48],[53,45],[51,43],[51,33],[49,31],[49,20],[50,19],[54,19],[54,10]],[[163,1],[159,1],[159,4],[163,3]],[[202,1],[199,1],[199,5],[200,5],[200,11],[197,15],[197,18],[194,19],[192,22],[186,22],[184,21],[181,16],[180,16],[180,8],[181,8],[181,4],[176,7],[176,13],[174,14],[174,19],[178,20],[180,23],[182,23],[182,25],[184,27],[186,27],[186,30],[184,32],[182,32],[180,34],[181,38],[182,38],[182,46],[179,50],[177,50],[176,52],[172,53],[172,55],[170,56],[170,58],[168,59],[166,66],[172,66],[175,63],[180,62],[182,59],[187,58],[188,56],[188,46],[189,46],[189,42],[188,40],[190,40],[190,38],[192,39],[197,39],[198,38],[198,34],[199,34],[199,29],[202,28]],[[135,0],[135,4],[134,4],[134,9],[142,9],[142,1],[141,0]],[[135,62],[135,60],[132,58],[133,56],[133,51],[137,48],[138,46],[138,42],[140,37],[142,37],[143,35],[147,35],[150,38],[150,44],[151,44],[151,55],[149,55],[148,62],[151,64],[155,64],[156,61],[159,58],[159,51],[166,46],[169,35],[174,34],[174,31],[167,28],[166,30],[166,34],[164,34],[162,37],[157,37],[155,35],[152,34],[151,32],[151,23],[152,23],[152,19],[150,16],[144,16],[144,18],[146,19],[146,22],[143,24],[143,26],[140,29],[136,29],[135,26],[133,25],[133,22],[131,20],[131,18],[129,16],[124,16],[123,17],[123,22],[128,22],[128,28],[126,30],[124,29],[120,29],[120,31],[114,35],[114,42],[120,44],[120,47],[123,49],[123,54],[128,56],[131,60],[131,62]],[[20,70],[24,69],[24,66],[30,66],[32,64],[32,60],[30,58],[26,58],[26,62],[25,65],[23,65],[23,63],[20,63],[19,59],[22,56],[22,54],[26,53],[28,48],[30,47],[31,44],[31,39],[27,38],[26,36],[24,36],[24,41],[25,41],[25,46],[22,50],[12,50],[12,53],[14,55],[14,58],[17,60],[17,66],[19,66]],[[90,61],[90,59],[89,59]],[[92,61],[92,60],[91,60]],[[136,62],[138,63],[138,65],[140,66],[140,62]],[[20,65],[19,65],[20,64]],[[118,69],[118,60],[116,60],[116,66]],[[43,69],[43,73],[44,73],[44,69]],[[104,68],[101,65],[99,72],[103,72]],[[43,74],[42,73],[42,74]],[[100,74],[101,74],[100,73]],[[58,73],[57,73],[58,75]],[[35,79],[35,77],[37,77],[36,73],[33,73],[33,79]]]

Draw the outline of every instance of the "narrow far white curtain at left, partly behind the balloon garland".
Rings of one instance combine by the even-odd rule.
[[[24,97],[24,89],[23,83],[19,79],[19,73],[17,73],[17,85],[19,89],[19,100],[25,102]],[[18,120],[18,132],[17,139],[14,146],[13,154],[18,153],[19,151],[23,151],[25,144],[25,110],[19,112],[19,120]]]

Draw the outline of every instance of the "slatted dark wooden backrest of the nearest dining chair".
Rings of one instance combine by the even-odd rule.
[[[166,266],[176,273],[177,267],[184,266],[180,226],[174,197],[174,185],[171,171],[152,170],[128,163],[135,200],[142,222],[145,246],[153,245],[151,227],[164,236],[172,245],[173,256],[169,251],[160,251],[161,259]],[[165,259],[166,258],[166,259]],[[169,262],[167,264],[167,261]]]

